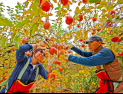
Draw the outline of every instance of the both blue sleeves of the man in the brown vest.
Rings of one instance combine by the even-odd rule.
[[[95,55],[92,55],[92,52],[82,51],[77,47],[71,48],[71,50],[75,51],[79,56],[69,55],[68,60],[77,64],[85,65],[85,66],[98,66],[103,65],[109,62],[113,62],[115,59],[114,54],[108,48],[103,48],[98,51]]]

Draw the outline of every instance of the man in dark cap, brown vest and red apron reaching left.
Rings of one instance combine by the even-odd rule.
[[[86,44],[90,51],[82,51],[72,45],[66,46],[66,49],[71,49],[82,57],[66,53],[64,58],[84,66],[96,66],[95,75],[101,80],[100,88],[95,93],[123,93],[122,70],[116,55],[110,49],[103,48],[104,43],[99,36],[91,36]]]

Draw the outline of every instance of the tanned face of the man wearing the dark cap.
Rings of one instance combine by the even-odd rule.
[[[95,51],[101,45],[101,41],[88,42],[88,47],[91,52]]]

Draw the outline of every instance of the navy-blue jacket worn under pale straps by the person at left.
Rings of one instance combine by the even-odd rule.
[[[29,43],[20,45],[19,50],[16,49],[17,64],[16,64],[12,74],[9,77],[8,89],[10,89],[11,85],[17,79],[21,69],[24,67],[25,63],[28,60],[28,56],[25,55],[25,52],[32,51],[32,50],[33,50],[33,46],[30,45]],[[36,68],[33,70],[31,57],[29,57],[29,58],[30,58],[30,62],[29,62],[29,65],[28,65],[26,71],[24,72],[24,74],[21,78],[21,82],[23,82],[26,85],[29,84],[30,82],[33,82],[35,80],[36,69],[38,66],[39,66],[39,75],[41,75],[44,79],[47,79],[47,74],[48,74],[47,70],[45,70],[39,62],[36,64]],[[4,93],[5,88],[6,88],[6,86],[0,91],[0,93]]]

